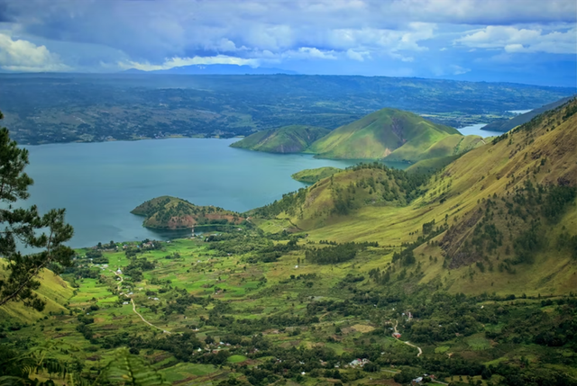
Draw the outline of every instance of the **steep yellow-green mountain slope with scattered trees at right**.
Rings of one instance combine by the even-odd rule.
[[[391,250],[393,265],[380,266],[387,281],[452,293],[568,293],[577,285],[576,155],[572,100],[457,159],[415,165],[443,167],[432,176],[355,166],[252,214],[269,229],[288,222],[311,243],[402,246]]]

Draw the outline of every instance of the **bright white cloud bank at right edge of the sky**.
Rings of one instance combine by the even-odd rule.
[[[508,53],[577,53],[577,29],[544,32],[542,29],[488,26],[470,31],[454,45],[477,49],[504,49]]]

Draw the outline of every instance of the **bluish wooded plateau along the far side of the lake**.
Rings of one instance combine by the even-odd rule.
[[[574,87],[386,76],[2,74],[0,82],[6,125],[20,144],[334,129],[383,106],[460,127],[575,94]]]

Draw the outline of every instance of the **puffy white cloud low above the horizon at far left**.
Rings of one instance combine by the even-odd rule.
[[[13,40],[0,33],[0,68],[18,72],[58,72],[70,70],[60,62],[58,55],[45,46],[36,46],[27,40]]]

